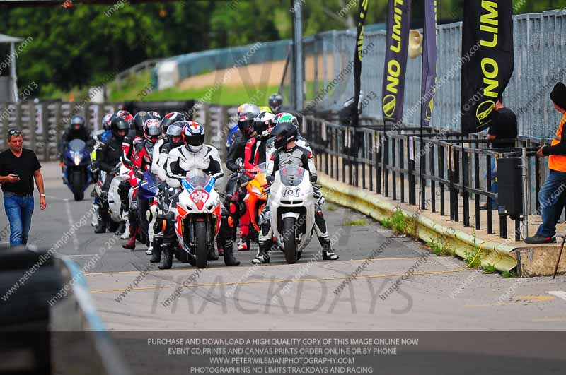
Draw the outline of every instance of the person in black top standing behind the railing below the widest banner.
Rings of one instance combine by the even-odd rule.
[[[515,141],[507,141],[516,139],[519,131],[517,130],[517,117],[511,109],[503,107],[503,96],[499,94],[495,103],[495,113],[493,114],[493,124],[487,131],[487,139],[493,141],[494,148],[510,148],[515,146]],[[499,141],[501,140],[501,141]],[[505,140],[505,141],[503,141]],[[495,158],[491,159],[491,191],[497,194],[497,163]],[[481,210],[487,210],[487,203],[480,207]],[[491,209],[497,210],[497,198],[492,199]]]

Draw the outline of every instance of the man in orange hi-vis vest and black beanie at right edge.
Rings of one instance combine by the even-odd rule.
[[[550,174],[538,193],[543,223],[533,237],[525,239],[527,244],[556,242],[554,238],[556,223],[560,219],[566,201],[566,194],[564,194],[566,191],[566,131],[562,131],[566,123],[566,85],[562,82],[557,83],[550,93],[550,99],[555,109],[562,114],[562,119],[550,146],[543,146],[537,152],[540,157],[548,156]]]

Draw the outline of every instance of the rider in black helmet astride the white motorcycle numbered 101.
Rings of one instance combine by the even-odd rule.
[[[272,129],[272,136],[275,137],[275,148],[277,148],[277,150],[270,157],[273,160],[272,167],[268,167],[269,169],[267,169],[267,179],[270,183],[275,179],[275,174],[279,169],[286,167],[287,165],[297,165],[310,172],[311,183],[315,184],[317,178],[313,153],[296,144],[299,133],[294,124],[291,124],[290,122],[277,124]],[[323,248],[323,259],[325,261],[335,261],[339,258],[339,256],[332,251],[330,237],[326,230],[326,222],[324,220],[323,211],[320,209],[320,205],[324,203],[324,199],[319,189],[315,189],[315,198],[317,198],[319,203],[316,204],[315,208],[314,230],[318,237],[318,242],[320,242],[320,246]],[[268,218],[268,211],[264,210],[262,215],[265,215],[264,217]],[[273,232],[270,220],[262,220],[260,249],[252,263],[269,263],[271,250],[267,249],[267,242],[272,238],[272,236]]]

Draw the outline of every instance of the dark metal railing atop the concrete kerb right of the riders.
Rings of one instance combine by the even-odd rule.
[[[491,209],[497,194],[492,192],[490,166],[493,159],[522,156],[529,172],[534,170],[526,174],[525,186],[529,189],[524,194],[528,197],[528,209],[524,213],[538,212],[536,197],[545,171],[541,159],[536,157],[534,141],[519,139],[517,148],[490,149],[490,141],[481,136],[462,138],[460,133],[446,129],[425,129],[421,142],[419,128],[383,129],[382,124],[370,124],[369,120],[366,126],[352,128],[305,117],[302,130],[316,155],[317,169],[336,181],[420,210],[449,215],[450,220],[466,227],[507,238],[508,216]],[[527,152],[522,153],[523,149]],[[482,202],[487,202],[485,211],[480,210]],[[470,222],[470,213],[474,213],[474,222]],[[497,216],[498,225],[494,223]],[[511,237],[520,240],[524,217],[513,219],[515,231]]]

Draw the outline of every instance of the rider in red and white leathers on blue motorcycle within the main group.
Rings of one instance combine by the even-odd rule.
[[[144,141],[139,149],[134,149],[132,154],[134,174],[138,179],[143,179],[144,172],[151,170],[151,159],[154,155],[154,146],[163,136],[163,128],[161,127],[161,121],[158,119],[148,119],[144,123]],[[141,230],[145,237],[149,241],[149,247],[153,238],[149,234],[152,234],[153,230],[149,231],[149,222],[147,221],[147,211],[149,210],[149,200],[147,198],[141,198],[139,194],[136,197],[137,204],[130,204],[130,227],[132,227],[132,221],[134,221],[134,216],[137,215],[139,220],[139,230]],[[123,244],[124,249],[134,250],[136,248],[136,236],[135,234],[130,237],[126,244]]]

